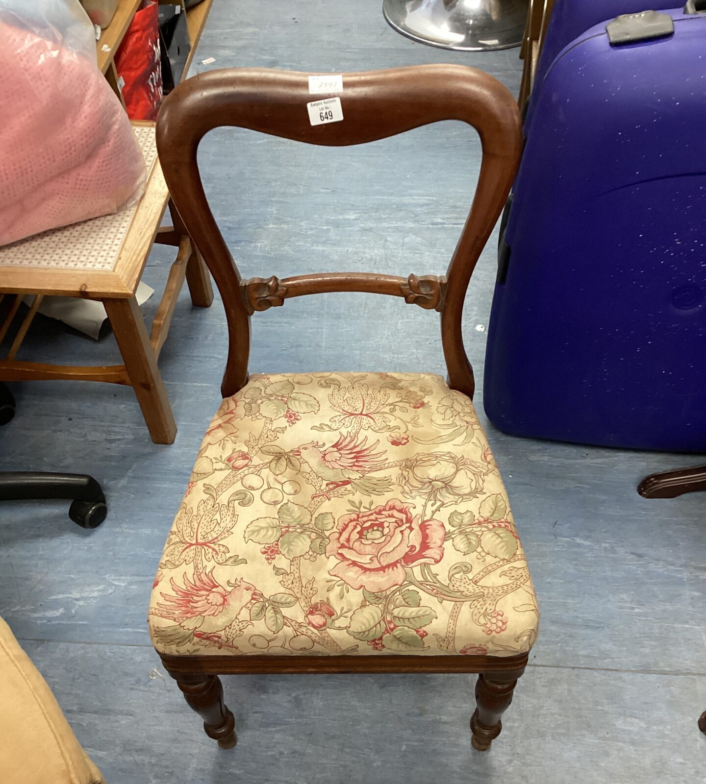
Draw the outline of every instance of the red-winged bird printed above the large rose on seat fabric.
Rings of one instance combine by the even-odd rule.
[[[358,438],[354,434],[341,436],[332,446],[326,447],[318,441],[311,441],[293,450],[309,468],[326,482],[326,490],[316,495],[325,495],[329,501],[332,490],[350,485],[353,490],[364,495],[383,495],[391,488],[389,477],[371,477],[386,465],[384,451],[376,452],[380,441],[368,445],[367,437]]]

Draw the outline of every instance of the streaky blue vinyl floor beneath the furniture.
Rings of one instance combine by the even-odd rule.
[[[208,57],[215,62],[203,66]],[[388,27],[380,0],[216,0],[195,70],[431,62],[471,64],[519,87],[517,49],[414,43]],[[479,154],[472,132],[447,122],[348,149],[226,129],[205,140],[200,162],[247,276],[442,274]],[[464,315],[479,381],[496,240]],[[144,279],[155,289],[171,253],[151,255]],[[148,317],[156,299],[144,306]],[[256,314],[253,329],[254,371],[443,372],[438,318],[399,299],[294,299]],[[94,532],[68,521],[63,503],[0,506],[0,615],[108,782],[706,781],[696,724],[706,710],[706,495],[646,501],[635,492],[644,474],[698,459],[522,441],[487,423],[542,612],[493,750],[471,750],[474,677],[416,675],[224,678],[239,742],[219,750],[164,677],[145,619],[162,545],[219,404],[225,355],[219,299],[196,310],[184,289],[160,361],[179,427],[174,445],[151,443],[132,390],[92,383],[14,384],[17,416],[0,430],[0,470],[88,471],[108,497],[109,517]],[[38,318],[24,358],[110,364],[118,351],[111,336],[94,343]],[[481,400],[482,385],[482,412]]]

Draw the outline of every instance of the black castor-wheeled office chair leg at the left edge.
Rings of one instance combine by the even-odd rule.
[[[97,528],[107,515],[105,495],[93,477],[34,471],[0,472],[0,501],[45,499],[71,501],[69,517],[82,528]]]

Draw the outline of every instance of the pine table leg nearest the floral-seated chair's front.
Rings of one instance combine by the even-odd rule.
[[[140,306],[135,297],[105,299],[104,305],[152,441],[173,444],[177,425]]]

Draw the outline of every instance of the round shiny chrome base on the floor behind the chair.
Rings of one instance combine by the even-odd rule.
[[[443,49],[519,46],[528,0],[384,0],[385,19],[403,35]]]

